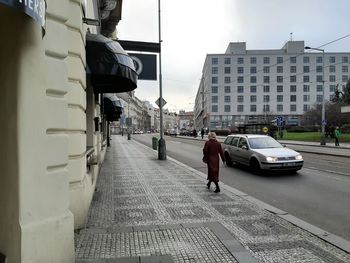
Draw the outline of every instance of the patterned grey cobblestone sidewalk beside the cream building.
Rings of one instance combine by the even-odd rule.
[[[113,136],[88,222],[75,234],[76,262],[350,262],[348,241],[224,184],[215,194],[205,178]]]

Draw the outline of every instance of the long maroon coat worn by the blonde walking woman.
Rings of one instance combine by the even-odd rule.
[[[221,149],[221,144],[215,140],[210,139],[205,142],[203,148],[203,155],[207,160],[208,166],[208,180],[214,183],[219,182],[219,167],[220,167],[220,159],[221,156],[222,161],[225,161],[224,153]]]

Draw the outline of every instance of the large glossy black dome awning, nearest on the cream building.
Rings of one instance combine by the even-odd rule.
[[[117,41],[86,35],[87,74],[96,93],[121,93],[136,89],[134,62]]]

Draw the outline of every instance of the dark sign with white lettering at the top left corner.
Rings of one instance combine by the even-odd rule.
[[[27,14],[45,28],[45,0],[0,0],[0,4],[11,6]]]

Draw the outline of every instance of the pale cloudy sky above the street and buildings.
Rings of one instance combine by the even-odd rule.
[[[161,0],[165,109],[192,111],[207,54],[230,42],[280,49],[292,39],[325,52],[350,52],[350,0]],[[158,0],[124,0],[121,40],[158,42]],[[158,81],[138,81],[135,95],[155,106]]]

